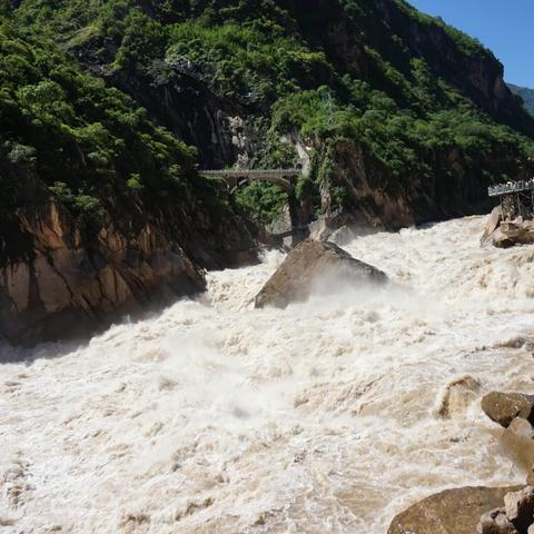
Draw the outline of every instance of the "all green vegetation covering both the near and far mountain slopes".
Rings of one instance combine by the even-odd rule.
[[[362,149],[389,185],[414,176],[432,181],[438,154],[456,151],[486,181],[501,179],[495,161],[503,152],[517,164],[534,156],[527,137],[534,122],[526,113],[501,119],[490,105],[475,105],[467,81],[458,81],[457,61],[487,61],[498,73],[493,55],[404,0],[392,0],[394,7],[400,22],[385,20],[370,0],[338,0],[328,12],[285,0],[23,0],[16,26],[2,26],[9,157],[37,166],[52,190],[73,211],[90,212],[91,221],[100,214],[92,199],[106,188],[134,197],[179,195],[194,157],[131,100],[36,34],[108,75],[202,83],[254,125],[264,140],[258,167],[294,165],[288,139],[313,147],[310,176],[297,192],[317,210],[324,209],[320,188],[329,188],[336,205],[347,200],[347,191],[330,184],[338,144]],[[325,36],[327,17],[338,17],[345,37]],[[451,47],[453,61],[442,46]],[[455,182],[462,172],[443,171]],[[237,201],[268,221],[285,197],[255,184]]]

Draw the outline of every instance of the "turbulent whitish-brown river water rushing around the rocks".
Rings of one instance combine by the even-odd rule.
[[[534,247],[483,249],[483,222],[345,247],[396,287],[255,310],[269,253],[82,347],[4,348],[0,532],[384,534],[522,482],[479,399],[532,390]]]

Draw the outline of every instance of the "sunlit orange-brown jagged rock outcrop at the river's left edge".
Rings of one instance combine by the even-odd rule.
[[[154,224],[125,236],[108,220],[88,247],[50,200],[23,215],[19,231],[31,248],[0,268],[0,334],[12,343],[78,337],[206,286],[204,271]]]

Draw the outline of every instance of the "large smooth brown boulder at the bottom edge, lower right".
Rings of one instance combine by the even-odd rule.
[[[481,516],[517,490],[521,486],[446,490],[395,516],[387,534],[473,534]]]

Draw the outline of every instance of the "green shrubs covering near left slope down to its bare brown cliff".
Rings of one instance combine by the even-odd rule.
[[[0,19],[0,157],[20,169],[1,176],[3,221],[50,196],[70,211],[86,243],[106,216],[118,214],[130,233],[148,216],[167,215],[177,228],[166,230],[185,241],[187,231],[199,235],[192,229],[199,211],[219,225],[225,217],[231,221],[220,188],[197,175],[195,148],[156,126],[130,97],[85,72],[52,41],[26,31],[6,11]],[[42,186],[31,199],[21,187],[20,176],[27,171]],[[2,261],[13,249],[10,237],[3,239]]]

